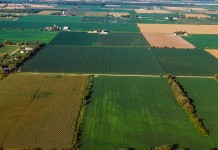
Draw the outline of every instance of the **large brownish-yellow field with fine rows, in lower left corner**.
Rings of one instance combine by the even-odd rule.
[[[4,148],[70,148],[88,76],[12,74],[0,81]]]

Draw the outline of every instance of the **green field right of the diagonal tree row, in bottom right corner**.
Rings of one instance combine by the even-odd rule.
[[[211,141],[211,147],[218,145],[218,122],[215,116],[218,113],[218,81],[214,79],[177,78],[184,87],[188,96],[193,99],[197,115],[203,119],[210,135],[206,141]],[[205,141],[205,142],[206,142]]]

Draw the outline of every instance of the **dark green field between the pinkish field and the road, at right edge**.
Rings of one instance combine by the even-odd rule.
[[[165,73],[175,75],[214,75],[218,60],[204,50],[152,49]]]

